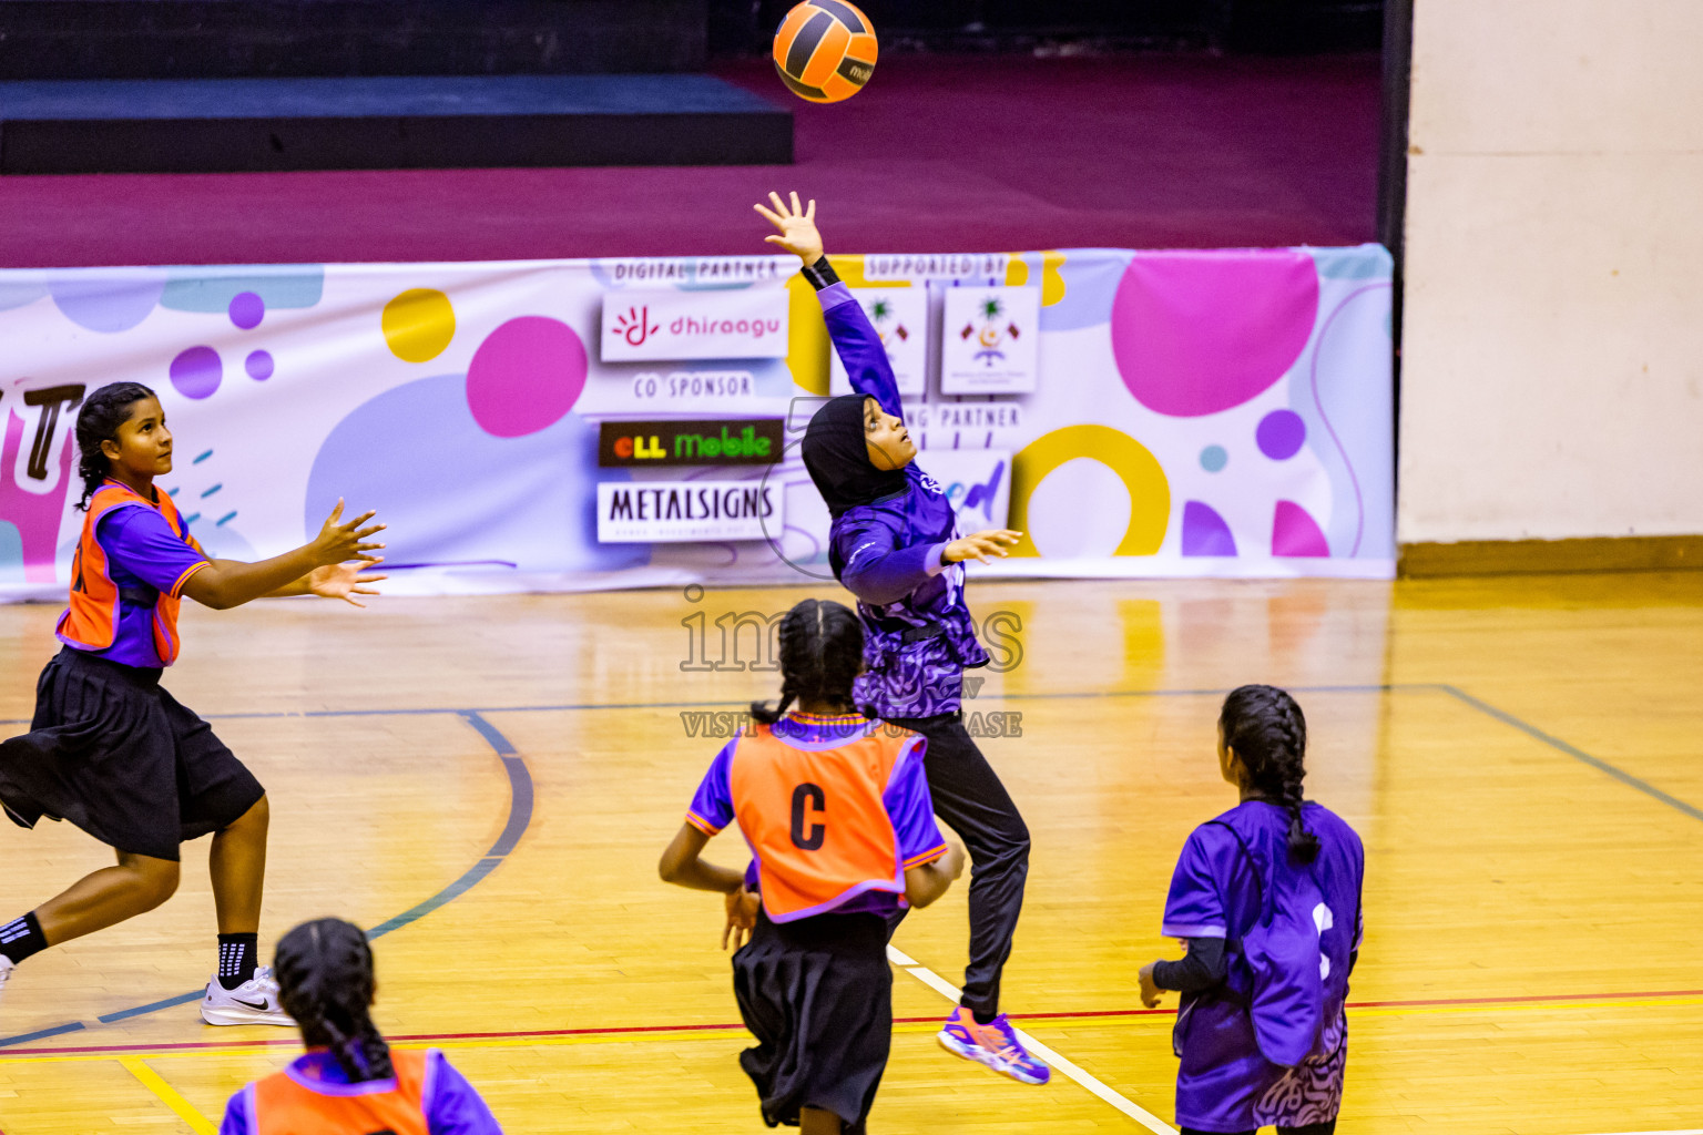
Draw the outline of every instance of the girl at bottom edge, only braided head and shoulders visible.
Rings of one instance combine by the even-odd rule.
[[[284,1007],[307,1053],[230,1098],[220,1135],[502,1135],[438,1050],[392,1052],[373,1024],[373,950],[342,919],[278,941]]]

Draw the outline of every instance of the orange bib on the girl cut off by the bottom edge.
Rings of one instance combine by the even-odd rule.
[[[255,1135],[429,1135],[424,1052],[390,1052],[397,1079],[303,1087],[288,1072],[254,1084]],[[373,1089],[381,1091],[373,1091]]]

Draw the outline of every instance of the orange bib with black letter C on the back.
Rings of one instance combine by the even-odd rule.
[[[904,893],[882,793],[916,735],[875,723],[833,749],[797,749],[753,725],[734,749],[734,817],[758,858],[775,922],[833,910],[867,890]]]

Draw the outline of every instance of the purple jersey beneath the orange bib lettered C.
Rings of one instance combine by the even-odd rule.
[[[773,735],[799,749],[829,749],[838,740],[863,737],[870,728],[869,718],[858,715],[816,716],[812,713],[788,713],[770,728]],[[899,762],[892,766],[892,776],[880,795],[880,803],[892,824],[897,842],[899,866],[913,868],[932,859],[938,859],[947,841],[935,824],[935,805],[928,795],[928,776],[923,773],[923,749],[928,740],[918,737]],[[686,824],[705,836],[715,836],[734,822],[732,762],[739,739],[722,745],[710,762],[710,771],[698,784],[698,793],[691,798],[691,810],[686,812]],[[756,863],[746,870],[746,887],[756,888]],[[845,902],[831,907],[833,914],[892,914],[904,905],[904,895],[884,890],[860,890]],[[826,910],[823,912],[826,914]]]

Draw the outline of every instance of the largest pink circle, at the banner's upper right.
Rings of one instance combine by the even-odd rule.
[[[1112,356],[1141,405],[1201,417],[1282,378],[1316,317],[1318,269],[1304,252],[1138,254],[1112,299]]]

